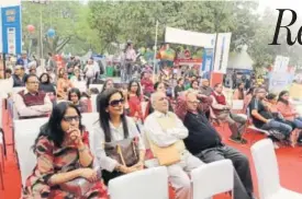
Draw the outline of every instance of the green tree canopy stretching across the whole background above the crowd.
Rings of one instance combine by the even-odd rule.
[[[158,42],[164,42],[165,27],[171,26],[203,33],[232,32],[231,50],[248,46],[255,69],[273,63],[277,55],[289,56],[290,65],[301,65],[300,45],[268,45],[272,42],[278,11],[257,12],[255,1],[51,1],[49,4],[22,2],[24,48],[40,54],[40,12],[43,19],[43,44],[46,52],[83,55],[110,51],[127,39],[137,48],[153,47],[156,21]],[[26,26],[36,27],[29,33]],[[56,35],[47,36],[54,28]],[[294,27],[293,33],[298,32]],[[286,32],[280,33],[284,40]],[[32,47],[30,48],[30,46]]]

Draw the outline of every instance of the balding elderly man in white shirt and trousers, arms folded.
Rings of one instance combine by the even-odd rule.
[[[187,138],[188,129],[174,113],[168,112],[169,103],[166,94],[154,93],[152,104],[155,112],[146,118],[145,130],[149,140],[159,148],[179,143],[180,161],[167,167],[171,185],[176,189],[176,198],[190,199],[191,182],[188,173],[203,163],[186,149],[182,140]]]

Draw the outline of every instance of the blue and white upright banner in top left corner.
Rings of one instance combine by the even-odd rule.
[[[2,46],[4,54],[21,54],[22,51],[22,27],[21,8],[7,7],[1,9],[2,20]]]

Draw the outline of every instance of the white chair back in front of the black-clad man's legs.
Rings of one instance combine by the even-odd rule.
[[[213,196],[233,191],[234,167],[230,160],[203,164],[191,172],[192,199],[211,199]]]

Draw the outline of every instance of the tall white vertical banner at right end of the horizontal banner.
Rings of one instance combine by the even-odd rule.
[[[232,33],[220,33],[216,42],[214,72],[226,73]]]

